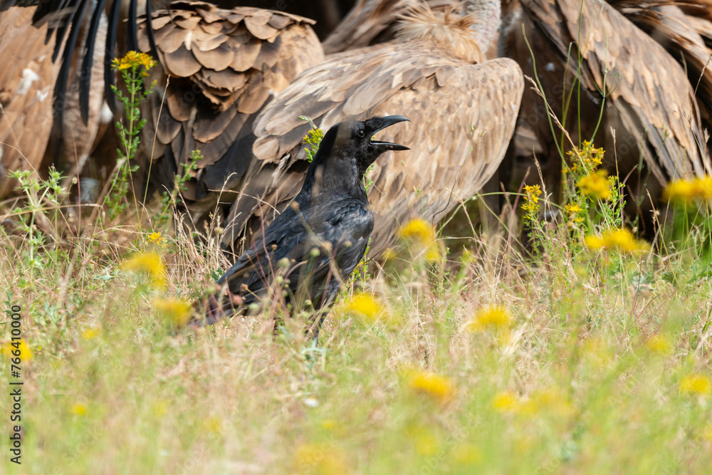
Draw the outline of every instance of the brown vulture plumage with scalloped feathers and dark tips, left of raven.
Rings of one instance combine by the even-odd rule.
[[[205,197],[193,211],[213,211],[219,194],[206,197],[207,192],[246,169],[239,145],[251,133],[251,115],[323,58],[310,24],[279,11],[218,9],[201,1],[173,2],[150,21],[140,19],[139,48],[150,51],[153,31],[162,66],[153,76],[158,87],[145,108],[139,157],[155,186],[171,189],[173,175],[183,171],[180,164],[198,149],[204,158],[184,198],[194,203]]]

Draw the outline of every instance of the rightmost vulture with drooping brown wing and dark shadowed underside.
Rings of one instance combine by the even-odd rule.
[[[651,236],[651,210],[662,187],[671,179],[712,172],[695,88],[666,51],[674,46],[661,46],[604,1],[511,0],[505,11],[501,41],[506,55],[526,75],[538,78],[572,140],[604,147],[602,166],[627,184],[627,214],[638,216],[644,234]],[[692,68],[699,68],[701,54],[691,53]],[[543,147],[545,184],[556,200],[567,144],[559,130],[553,135],[543,99],[532,88],[523,95],[520,120],[532,127]]]

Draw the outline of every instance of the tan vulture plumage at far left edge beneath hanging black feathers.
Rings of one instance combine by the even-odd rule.
[[[61,61],[52,62],[56,35],[47,37],[48,24],[33,25],[36,7],[12,7],[0,16],[0,197],[16,186],[7,172],[35,169],[41,175],[57,159],[56,165],[66,177],[67,187],[95,147],[100,130],[103,105],[103,48],[96,48],[89,89],[89,121],[80,118],[78,81],[84,51],[75,52],[69,71],[70,84],[61,99],[64,120],[61,132],[53,136],[53,88]],[[100,19],[96,41],[103,43],[106,18]],[[87,19],[88,22],[88,19]],[[86,36],[88,25],[80,28]],[[47,42],[45,42],[47,40]],[[48,145],[52,143],[51,147]],[[53,153],[58,147],[58,157]]]

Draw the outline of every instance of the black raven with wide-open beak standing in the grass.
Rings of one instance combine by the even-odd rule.
[[[218,279],[219,285],[227,284],[227,298],[211,296],[202,321],[214,323],[261,304],[275,291],[285,292],[290,313],[310,306],[315,310],[308,336],[317,338],[343,279],[363,258],[373,229],[363,175],[383,152],[409,150],[373,135],[406,120],[392,115],[331,127],[301,191]]]

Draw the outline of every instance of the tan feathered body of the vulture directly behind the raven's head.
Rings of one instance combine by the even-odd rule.
[[[498,13],[498,1],[489,5]],[[374,115],[411,120],[384,131],[383,140],[412,151],[387,152],[369,174],[372,256],[392,244],[399,224],[416,216],[436,221],[478,192],[511,140],[523,77],[511,60],[483,62],[473,21],[476,15],[417,7],[398,41],[338,53],[296,78],[253,125],[255,159],[237,189],[223,246],[239,254],[241,238],[249,241],[298,192],[308,167],[301,140],[310,128],[300,115],[323,130]]]

